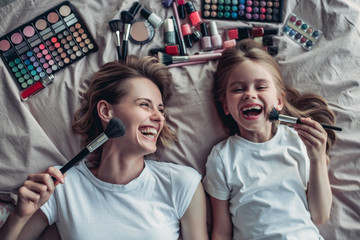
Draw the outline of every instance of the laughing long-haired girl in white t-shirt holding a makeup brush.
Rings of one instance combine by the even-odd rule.
[[[223,53],[214,98],[232,136],[206,164],[212,239],[321,239],[315,224],[330,215],[327,153],[335,140],[317,122],[334,123],[325,100],[286,87],[275,60],[252,40]],[[270,122],[274,107],[303,124]]]

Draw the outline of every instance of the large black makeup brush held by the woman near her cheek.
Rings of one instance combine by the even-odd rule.
[[[103,145],[110,138],[121,137],[125,133],[125,125],[118,118],[112,118],[108,125],[106,126],[105,131],[100,134],[97,138],[95,138],[91,143],[89,143],[81,152],[79,152],[73,159],[67,162],[60,171],[62,174],[67,172],[70,168],[72,168],[76,163],[85,158],[89,153],[93,152],[95,149]],[[55,181],[56,179],[52,177]]]

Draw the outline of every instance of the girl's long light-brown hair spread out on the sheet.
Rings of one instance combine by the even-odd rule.
[[[294,117],[311,117],[321,123],[334,124],[335,114],[323,97],[312,93],[301,94],[295,88],[286,86],[275,59],[264,51],[261,45],[251,39],[245,39],[240,41],[236,48],[227,49],[223,52],[214,75],[215,105],[229,134],[239,134],[239,128],[232,116],[230,114],[226,115],[223,109],[226,87],[233,69],[244,61],[261,64],[272,75],[279,96],[285,96],[283,97],[284,108],[281,111],[282,114]],[[336,135],[333,130],[326,129],[326,131],[328,133],[326,152],[328,153],[335,142]]]

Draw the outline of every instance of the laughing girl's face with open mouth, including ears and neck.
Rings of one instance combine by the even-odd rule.
[[[272,75],[253,61],[238,65],[228,79],[223,109],[237,122],[240,135],[253,142],[270,140],[272,123],[268,114],[273,107],[280,111],[283,99]]]

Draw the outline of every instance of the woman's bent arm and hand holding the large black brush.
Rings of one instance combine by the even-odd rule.
[[[51,176],[57,181],[53,182]],[[31,174],[19,189],[18,202],[0,229],[1,239],[36,239],[48,225],[45,214],[39,209],[46,203],[55,186],[64,182],[62,173],[50,167],[46,173]]]

